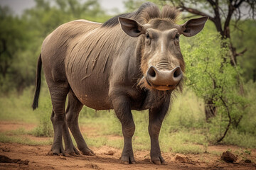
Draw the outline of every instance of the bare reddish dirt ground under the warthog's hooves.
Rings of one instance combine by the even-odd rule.
[[[0,132],[21,127],[31,129],[34,125],[0,122]],[[41,140],[40,137],[36,138]],[[111,138],[111,136],[108,138]],[[35,140],[35,137],[33,137],[33,140]],[[50,145],[28,146],[16,143],[0,143],[0,156],[4,155],[10,159],[29,161],[28,164],[21,162],[0,163],[0,169],[256,169],[254,163],[256,161],[256,149],[252,149],[251,154],[246,157],[252,163],[245,163],[245,158],[241,155],[238,155],[238,161],[235,163],[226,163],[220,159],[220,154],[218,153],[225,152],[228,149],[235,151],[240,147],[225,145],[208,147],[210,154],[186,154],[189,160],[186,163],[176,161],[174,153],[163,153],[162,156],[166,159],[168,165],[160,166],[149,162],[149,151],[134,151],[134,158],[137,164],[124,165],[119,160],[122,150],[112,147],[90,147],[96,156],[80,155],[79,157],[50,156],[47,154],[49,149]],[[106,153],[110,151],[114,152],[114,154],[107,155]]]

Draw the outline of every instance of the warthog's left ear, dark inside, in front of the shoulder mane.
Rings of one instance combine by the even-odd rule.
[[[122,17],[119,17],[118,20],[122,27],[122,30],[124,30],[124,33],[127,33],[127,35],[131,37],[138,37],[139,35],[144,33],[144,28],[142,24],[138,23],[137,21]]]

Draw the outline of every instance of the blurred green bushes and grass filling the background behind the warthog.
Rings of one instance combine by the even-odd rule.
[[[144,1],[127,0],[127,11],[134,11]],[[155,3],[163,5],[163,1]],[[19,135],[53,135],[50,122],[52,111],[50,96],[43,81],[39,108],[32,111],[36,61],[41,50],[41,43],[55,28],[68,21],[84,18],[90,21],[104,22],[108,16],[99,1],[36,0],[36,6],[24,11],[22,16],[14,16],[9,8],[0,6],[0,120],[21,121],[38,125],[27,132],[19,130]],[[183,21],[181,21],[183,23]],[[240,24],[240,25],[239,25]],[[181,52],[186,62],[186,88],[183,94],[176,94],[169,115],[164,120],[160,134],[163,152],[201,153],[207,152],[209,145],[223,136],[222,143],[240,147],[256,148],[256,83],[255,74],[255,39],[256,22],[241,20],[240,30],[231,27],[231,36],[235,47],[247,48],[244,55],[238,57],[240,67],[231,67],[228,49],[220,47],[220,36],[213,23],[206,23],[206,28],[193,38],[181,38]],[[223,62],[225,58],[225,62]],[[220,68],[222,71],[220,72]],[[236,79],[244,83],[241,95]],[[214,80],[214,81],[213,81]],[[213,84],[218,88],[213,89]],[[211,94],[215,96],[218,115],[206,121],[203,100]],[[228,113],[229,112],[229,113]],[[133,111],[136,132],[133,138],[134,149],[149,149],[147,132],[147,111]],[[80,125],[97,128],[97,135],[87,137],[88,145],[100,147],[108,145],[122,148],[122,130],[113,111],[97,111],[84,107],[80,113]],[[12,132],[14,133],[14,132]],[[108,140],[114,135],[115,140]],[[26,137],[0,134],[0,142],[33,143]]]

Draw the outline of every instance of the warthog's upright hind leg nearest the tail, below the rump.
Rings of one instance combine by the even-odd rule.
[[[69,91],[68,84],[54,84],[49,86],[50,97],[53,105],[53,112],[50,120],[53,123],[53,146],[51,148],[52,154],[63,154],[63,127],[65,127],[65,100]]]

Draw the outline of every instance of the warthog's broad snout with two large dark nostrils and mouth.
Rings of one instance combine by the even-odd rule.
[[[183,77],[181,67],[175,67],[171,71],[158,70],[156,67],[151,66],[146,72],[146,81],[149,86],[154,89],[166,91],[174,89]]]

